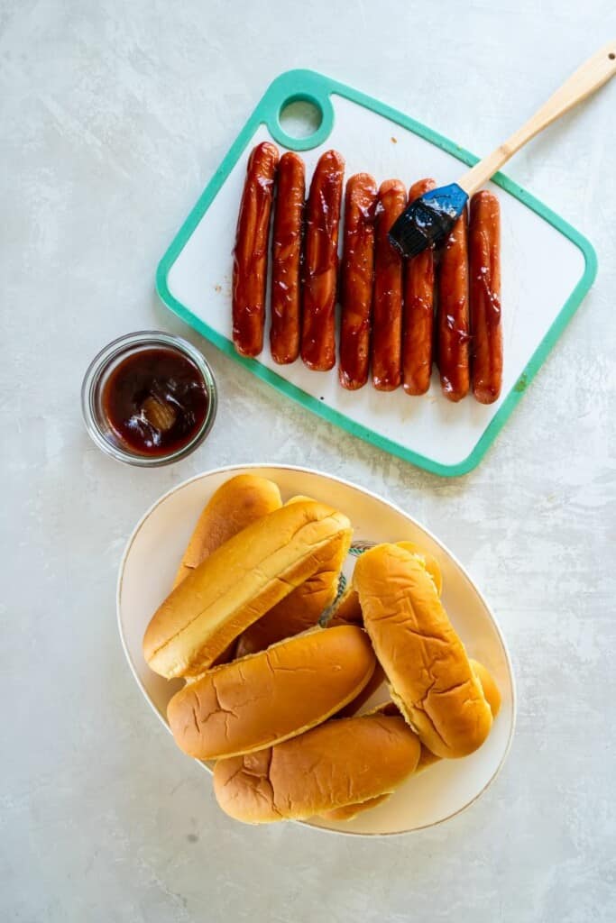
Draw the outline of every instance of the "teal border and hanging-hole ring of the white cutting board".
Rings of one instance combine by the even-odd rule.
[[[385,103],[372,99],[365,93],[353,90],[351,87],[347,87],[315,71],[286,71],[284,74],[275,78],[265,91],[254,112],[248,118],[248,122],[240,131],[224,157],[220,167],[213,175],[210,183],[199,197],[197,204],[190,211],[187,220],[182,224],[171,245],[165,252],[156,273],[156,288],[158,294],[163,300],[164,305],[169,307],[179,318],[186,321],[187,324],[195,330],[198,330],[206,339],[213,342],[223,353],[231,356],[236,362],[248,368],[259,378],[268,381],[274,388],[282,391],[287,397],[299,402],[312,413],[318,414],[323,419],[337,426],[341,426],[356,437],[365,439],[370,444],[390,452],[399,458],[405,459],[407,462],[412,462],[431,473],[447,477],[468,473],[477,467],[477,464],[483,459],[492,442],[501,431],[502,426],[504,426],[512,414],[514,407],[521,400],[528,385],[532,379],[535,378],[538,369],[560,337],[562,330],[564,330],[570,318],[573,317],[574,312],[578,306],[580,306],[584,296],[590,289],[596,278],[598,268],[595,249],[586,237],[504,174],[496,174],[493,177],[493,182],[497,186],[501,186],[502,189],[513,197],[519,199],[529,209],[535,211],[537,215],[546,222],[549,222],[557,231],[567,237],[574,246],[577,246],[584,257],[585,269],[581,278],[574,286],[573,291],[563,304],[559,314],[551,323],[550,329],[538,343],[534,353],[530,356],[522,374],[518,376],[515,385],[501,403],[497,413],[478,439],[474,449],[462,462],[456,464],[442,464],[425,455],[418,454],[416,451],[409,450],[407,447],[393,441],[393,439],[385,438],[375,433],[373,430],[361,426],[355,420],[340,413],[328,404],[320,402],[306,391],[298,388],[293,382],[283,378],[272,369],[261,365],[259,360],[248,359],[238,355],[231,340],[224,337],[219,331],[213,330],[202,318],[197,317],[186,305],[178,301],[170,290],[168,284],[170,270],[186,246],[191,234],[193,234],[195,228],[201,221],[201,218],[209,209],[211,202],[223,186],[226,177],[231,173],[238,158],[247,148],[259,126],[267,126],[272,138],[284,146],[284,148],[298,151],[311,150],[324,143],[332,130],[334,119],[331,102],[332,95],[344,97],[376,114],[382,115],[395,125],[402,126],[408,131],[426,139],[431,144],[445,150],[457,160],[469,166],[472,166],[478,161],[475,155],[454,144],[453,141],[444,138],[438,132],[433,131],[428,126],[422,125],[410,116],[397,112]],[[309,138],[291,138],[284,132],[284,128],[280,122],[280,114],[284,106],[297,100],[313,102],[321,112],[321,124],[318,130]],[[409,400],[414,399],[409,398]]]

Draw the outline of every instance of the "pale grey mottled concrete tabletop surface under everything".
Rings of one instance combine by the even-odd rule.
[[[186,332],[158,305],[154,268],[277,72],[321,69],[487,151],[615,26],[609,0],[0,0],[0,918],[616,917],[616,84],[508,170],[590,236],[599,275],[475,473],[395,461],[207,345],[220,416],[187,462],[117,465],[79,416],[105,342]],[[141,701],[115,628],[127,533],[191,473],[250,461],[393,498],[488,595],[518,730],[497,784],[451,823],[381,842],[236,825]]]

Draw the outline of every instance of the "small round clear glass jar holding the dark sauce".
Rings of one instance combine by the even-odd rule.
[[[180,354],[197,367],[208,404],[199,428],[188,438],[187,442],[168,453],[146,454],[133,450],[115,432],[103,410],[103,390],[112,373],[127,357],[157,347]],[[163,333],[162,330],[139,330],[135,333],[127,333],[108,343],[92,359],[81,386],[81,411],[92,440],[99,449],[111,455],[118,462],[127,462],[127,464],[138,465],[142,468],[157,468],[160,465],[171,464],[186,458],[210,432],[216,417],[217,406],[216,382],[204,356],[187,340],[170,333]]]

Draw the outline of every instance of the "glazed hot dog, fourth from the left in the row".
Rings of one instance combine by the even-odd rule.
[[[370,320],[374,277],[374,214],[377,184],[369,174],[351,176],[344,203],[344,251],[341,277],[340,365],[343,388],[368,381]]]

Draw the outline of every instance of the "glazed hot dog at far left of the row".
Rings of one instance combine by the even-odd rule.
[[[265,327],[268,237],[278,149],[252,151],[237,219],[233,261],[233,341],[242,355],[259,355]]]

